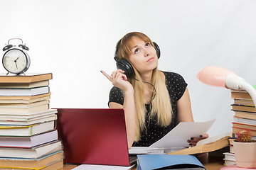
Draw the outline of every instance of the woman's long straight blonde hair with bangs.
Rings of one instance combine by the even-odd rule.
[[[129,61],[129,55],[131,54],[133,40],[132,38],[139,38],[144,42],[149,42],[152,46],[154,46],[153,42],[146,36],[144,33],[132,32],[127,33],[120,40],[118,50],[117,50],[117,59],[120,60],[124,58]],[[131,62],[130,62],[131,63]],[[131,63],[132,64],[132,63]],[[142,82],[142,78],[137,72],[137,69],[132,65],[135,76],[134,79],[129,78],[129,82],[134,87],[134,102],[135,102],[135,110],[136,110],[136,132],[135,132],[135,141],[140,140],[140,135],[143,130],[146,130],[145,123],[145,113],[146,107],[144,104],[144,83]],[[135,80],[137,79],[137,80]],[[155,116],[157,118],[157,124],[164,127],[171,123],[172,118],[172,108],[171,108],[171,100],[169,96],[169,92],[166,88],[165,79],[161,77],[161,72],[157,67],[153,70],[152,74],[152,82],[155,82],[155,97],[151,102],[151,112],[149,116]],[[153,86],[151,89],[152,93],[154,93]],[[150,120],[150,118],[149,118]]]

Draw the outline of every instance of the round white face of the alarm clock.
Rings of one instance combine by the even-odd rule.
[[[4,54],[4,68],[11,73],[19,74],[28,69],[30,62],[25,52],[18,49],[11,49]]]

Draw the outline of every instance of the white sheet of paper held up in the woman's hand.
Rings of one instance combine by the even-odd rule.
[[[207,122],[181,122],[176,125],[167,135],[156,141],[149,147],[170,148],[170,147],[189,147],[187,140],[191,137],[199,137],[206,133],[215,119]]]

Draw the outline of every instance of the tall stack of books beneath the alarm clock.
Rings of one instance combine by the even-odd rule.
[[[50,109],[52,74],[0,74],[0,169],[60,169],[63,145]]]

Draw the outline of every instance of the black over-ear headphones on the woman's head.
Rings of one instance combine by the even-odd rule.
[[[122,39],[121,39],[122,40]],[[134,69],[132,67],[132,64],[129,63],[128,60],[122,58],[120,60],[117,60],[117,51],[118,51],[118,46],[121,42],[121,40],[119,40],[117,42],[117,45],[116,45],[116,48],[115,48],[115,52],[114,52],[114,60],[117,62],[116,65],[117,65],[117,69],[122,69],[124,71],[124,74],[127,76],[127,77],[134,77]],[[153,42],[154,44],[154,47],[156,49],[156,55],[158,58],[160,58],[160,48],[159,46],[156,44],[156,42]]]

